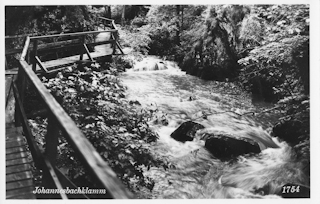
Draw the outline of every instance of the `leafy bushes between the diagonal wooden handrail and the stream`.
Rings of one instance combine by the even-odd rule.
[[[126,100],[117,72],[110,64],[72,66],[42,81],[124,184],[135,192],[141,187],[152,190],[154,182],[143,172],[151,166],[167,166],[165,158],[150,150],[158,135],[148,122],[157,110]],[[94,186],[65,138],[59,140],[58,166],[68,169],[78,186]]]

